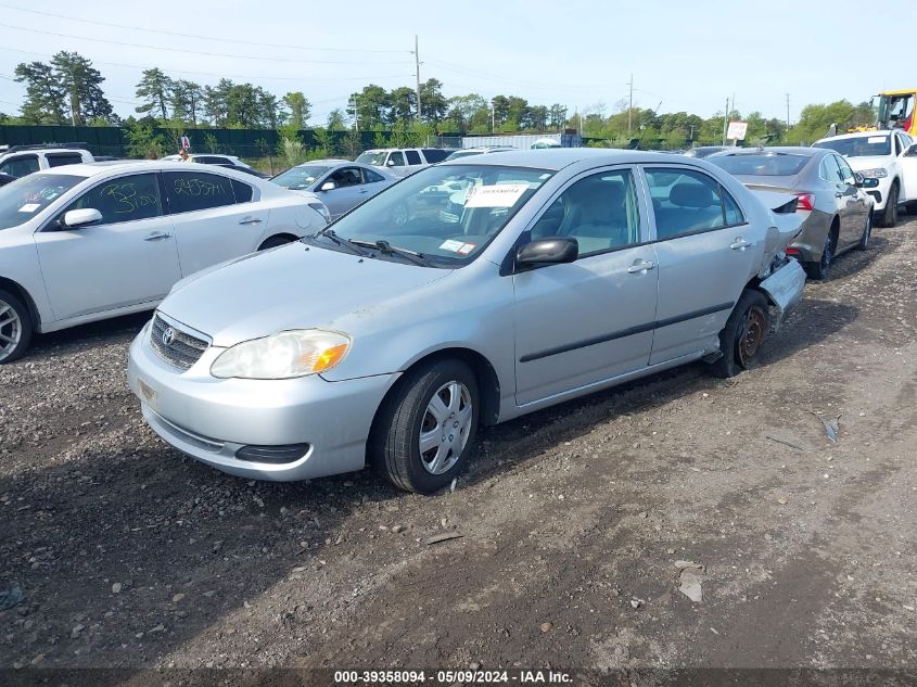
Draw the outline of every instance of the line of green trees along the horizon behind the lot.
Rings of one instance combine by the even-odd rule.
[[[142,72],[136,86],[135,114],[122,119],[102,89],[105,80],[90,60],[76,52],[61,51],[49,62],[21,63],[15,80],[26,87],[18,116],[0,114],[5,124],[99,125],[137,127],[278,129],[285,138],[303,129],[313,116],[313,106],[302,91],[283,96],[260,86],[238,84],[228,78],[216,86],[174,78],[157,67]],[[722,140],[728,119],[749,124],[747,143],[808,143],[825,136],[835,124],[839,131],[875,122],[869,103],[845,100],[803,107],[794,126],[760,112],[718,112],[701,117],[687,112],[658,113],[629,107],[619,101],[612,109],[596,103],[572,115],[565,105],[531,104],[518,96],[479,93],[446,98],[436,78],[420,85],[420,107],[416,89],[400,86],[391,90],[369,84],[354,92],[344,107],[331,111],[324,122],[328,131],[351,128],[362,131],[422,130],[433,133],[510,133],[574,129],[597,145],[678,148],[692,142]],[[319,127],[316,127],[319,128]],[[645,145],[650,147],[650,145]]]

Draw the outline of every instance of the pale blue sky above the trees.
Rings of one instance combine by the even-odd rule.
[[[658,112],[741,113],[797,120],[808,103],[857,103],[917,87],[917,2],[768,0],[0,0],[0,111],[18,112],[21,62],[60,51],[89,58],[115,111],[133,114],[141,71],[215,85],[303,91],[323,123],[367,84],[443,82],[446,97],[519,96],[570,114],[612,114],[629,97]],[[181,36],[179,34],[183,34]]]

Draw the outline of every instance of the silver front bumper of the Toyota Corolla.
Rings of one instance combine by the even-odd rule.
[[[315,374],[217,379],[209,369],[224,351],[211,346],[182,371],[153,351],[149,326],[133,340],[128,384],[163,441],[224,472],[256,480],[289,482],[364,468],[372,419],[397,373],[341,382]],[[286,461],[243,459],[240,451],[280,451]]]

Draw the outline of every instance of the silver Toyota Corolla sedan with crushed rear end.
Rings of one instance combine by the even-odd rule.
[[[419,202],[450,185],[455,221]],[[177,284],[131,345],[129,383],[160,436],[226,472],[370,463],[430,493],[480,424],[701,358],[721,376],[751,365],[805,281],[784,253],[795,199],[762,198],[673,155],[444,163]]]

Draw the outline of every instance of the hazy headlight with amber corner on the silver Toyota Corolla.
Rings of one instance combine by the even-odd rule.
[[[214,360],[220,379],[291,379],[330,370],[344,359],[351,338],[320,329],[300,329],[245,341]]]

